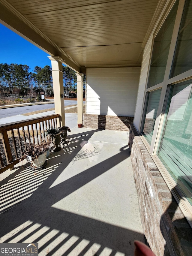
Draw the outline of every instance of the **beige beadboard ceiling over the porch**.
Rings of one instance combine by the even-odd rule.
[[[0,0],[0,20],[85,73],[85,67],[140,66],[142,46],[164,2]]]

